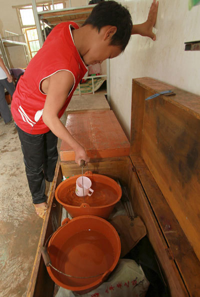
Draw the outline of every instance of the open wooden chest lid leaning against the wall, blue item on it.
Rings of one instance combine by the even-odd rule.
[[[164,90],[175,95],[145,100]],[[130,156],[192,296],[200,292],[199,135],[199,96],[149,77],[133,79]]]

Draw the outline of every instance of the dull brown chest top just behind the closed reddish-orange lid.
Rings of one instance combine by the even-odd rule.
[[[103,94],[73,95],[66,108],[66,114],[109,109],[110,106]]]

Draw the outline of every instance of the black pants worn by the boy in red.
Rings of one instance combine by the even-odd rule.
[[[52,181],[58,158],[57,136],[51,131],[28,134],[16,126],[23,152],[23,161],[34,204],[46,201],[45,179]]]

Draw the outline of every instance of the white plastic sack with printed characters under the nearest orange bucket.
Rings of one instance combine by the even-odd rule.
[[[55,297],[144,297],[149,282],[142,268],[131,259],[119,259],[108,279],[89,293],[79,295],[59,287]]]

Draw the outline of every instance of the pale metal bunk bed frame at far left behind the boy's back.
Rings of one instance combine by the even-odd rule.
[[[5,65],[7,66],[7,68],[8,69],[10,68],[10,64],[9,64],[7,54],[5,51],[5,47],[8,47],[8,46],[14,46],[14,45],[22,46],[24,54],[25,54],[26,63],[28,64],[30,61],[30,54],[28,51],[27,44],[25,42],[24,35],[23,34],[19,35],[19,34],[16,34],[16,33],[13,33],[13,32],[7,31],[7,30],[4,31],[4,34],[5,34],[4,37],[2,37],[0,35],[0,51],[2,54],[3,61],[4,61]]]

